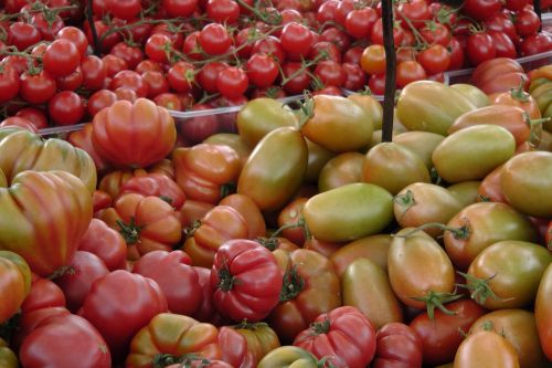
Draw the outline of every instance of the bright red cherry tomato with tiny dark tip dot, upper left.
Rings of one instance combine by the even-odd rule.
[[[54,77],[70,75],[81,64],[81,53],[73,42],[59,39],[47,46],[42,63]]]

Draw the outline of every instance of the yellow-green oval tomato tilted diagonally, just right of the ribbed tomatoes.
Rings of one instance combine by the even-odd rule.
[[[277,128],[255,146],[237,179],[237,192],[253,199],[262,211],[278,210],[299,190],[307,162],[301,133]]]

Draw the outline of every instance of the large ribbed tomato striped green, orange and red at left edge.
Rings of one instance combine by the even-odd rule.
[[[0,250],[21,255],[46,276],[70,263],[92,219],[92,196],[65,171],[23,171],[0,188]],[[26,198],[22,200],[22,198]],[[33,199],[33,200],[31,200]]]

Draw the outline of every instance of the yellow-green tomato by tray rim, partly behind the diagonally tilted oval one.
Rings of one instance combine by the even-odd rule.
[[[297,117],[288,107],[268,97],[247,102],[236,117],[237,132],[251,147],[255,147],[269,132],[283,126],[297,126]]]

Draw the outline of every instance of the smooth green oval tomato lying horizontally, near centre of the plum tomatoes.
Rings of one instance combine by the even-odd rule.
[[[375,234],[393,220],[393,197],[365,182],[346,185],[310,198],[302,209],[315,239],[346,242]]]

